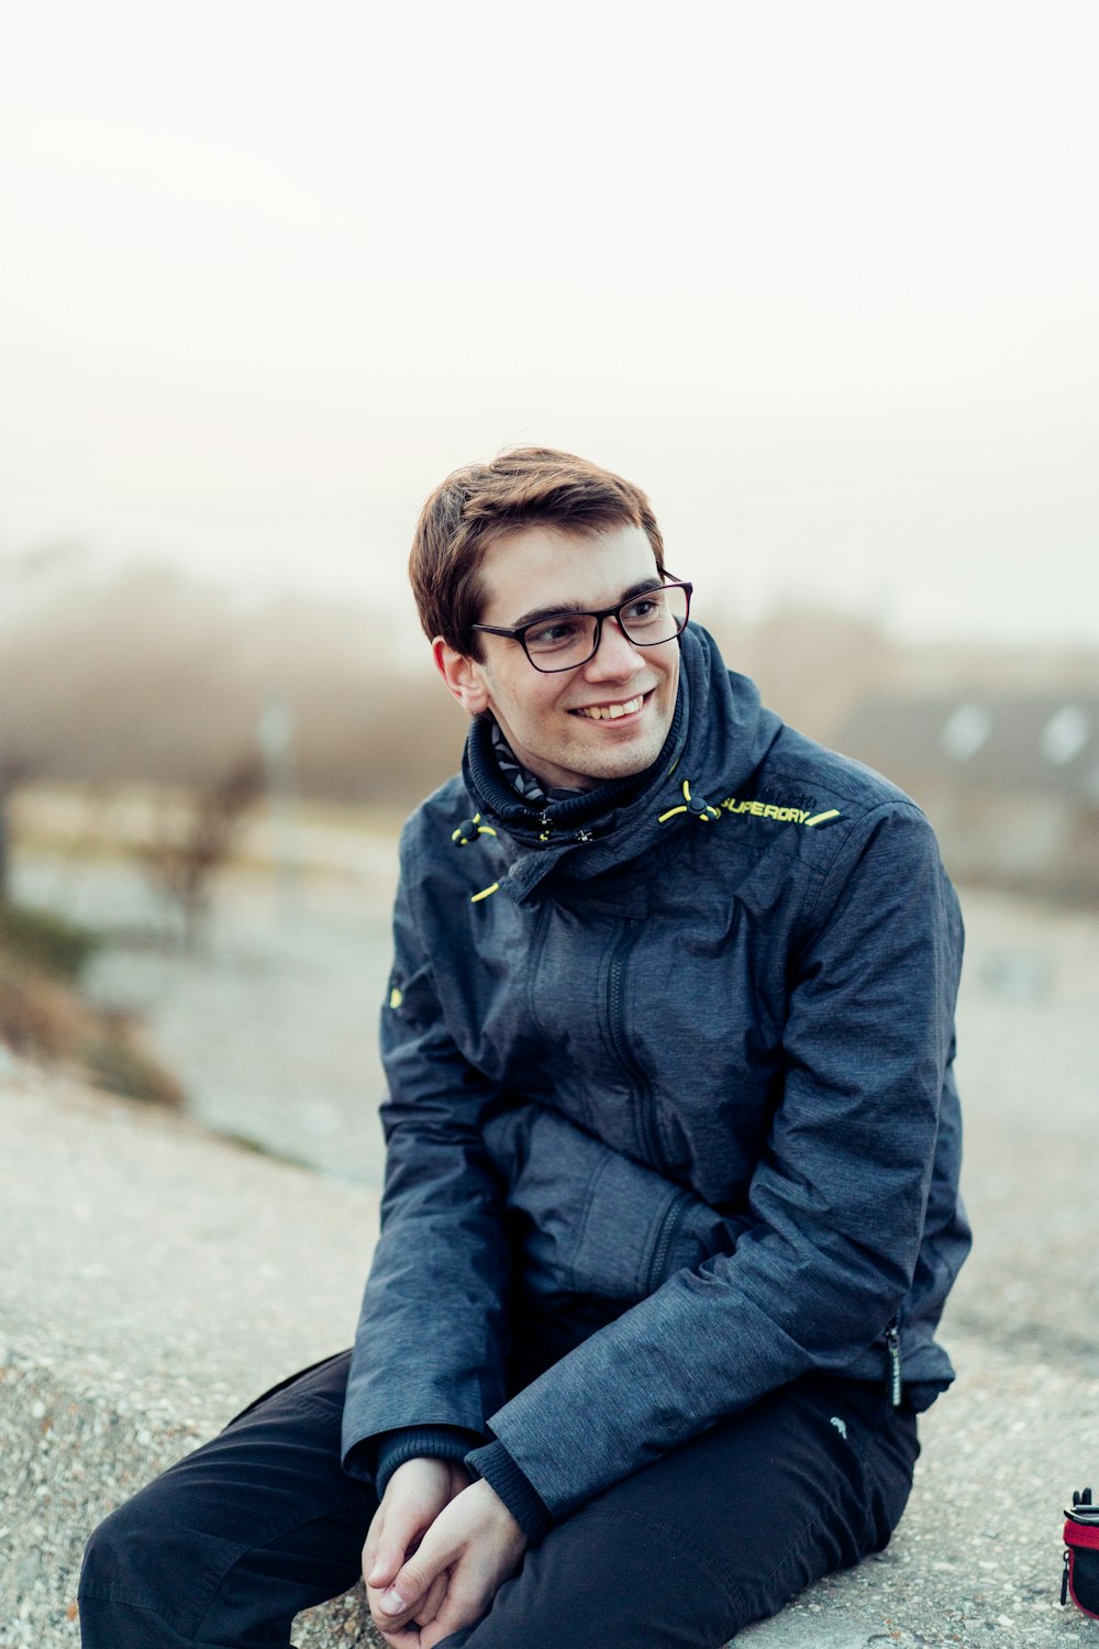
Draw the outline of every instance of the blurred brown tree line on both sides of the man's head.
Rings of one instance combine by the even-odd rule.
[[[748,625],[699,620],[765,702],[827,742],[873,693],[1099,688],[1099,651],[906,645],[796,602]],[[293,724],[302,793],[412,808],[458,767],[465,717],[409,615],[302,595],[247,605],[161,567],[92,576],[72,552],[0,561],[0,787],[209,787],[257,750],[272,699]],[[0,862],[3,843],[0,839]]]

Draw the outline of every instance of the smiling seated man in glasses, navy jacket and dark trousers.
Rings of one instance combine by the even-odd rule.
[[[92,1537],[87,1646],[715,1649],[890,1539],[967,1252],[919,810],[760,707],[646,496],[519,450],[412,584],[473,717],[402,838],[354,1351]]]

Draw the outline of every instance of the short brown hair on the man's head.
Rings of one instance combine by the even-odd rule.
[[[489,544],[526,526],[595,536],[610,526],[639,526],[657,572],[664,539],[641,488],[587,458],[552,447],[516,447],[489,463],[468,463],[437,486],[420,511],[409,577],[428,640],[479,658],[478,622],[484,590],[481,561]]]

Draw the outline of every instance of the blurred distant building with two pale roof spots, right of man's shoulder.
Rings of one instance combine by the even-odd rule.
[[[840,750],[903,785],[954,877],[1099,902],[1099,698],[868,698]]]

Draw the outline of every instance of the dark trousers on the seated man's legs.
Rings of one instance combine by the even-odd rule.
[[[96,1530],[84,1649],[288,1649],[298,1611],[354,1585],[377,1501],[339,1466],[348,1360],[260,1398]],[[918,1453],[877,1387],[797,1380],[552,1529],[447,1649],[717,1649],[880,1550]]]

